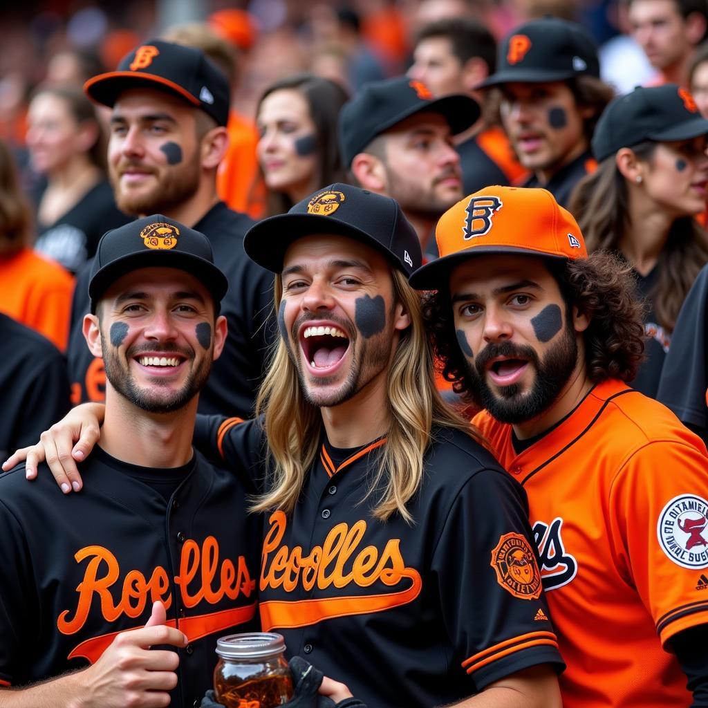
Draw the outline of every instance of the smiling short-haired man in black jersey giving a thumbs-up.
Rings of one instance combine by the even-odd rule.
[[[1,706],[191,706],[217,638],[250,629],[260,524],[191,446],[227,287],[205,236],[162,215],[98,244],[84,336],[108,380],[89,489],[0,476]]]

